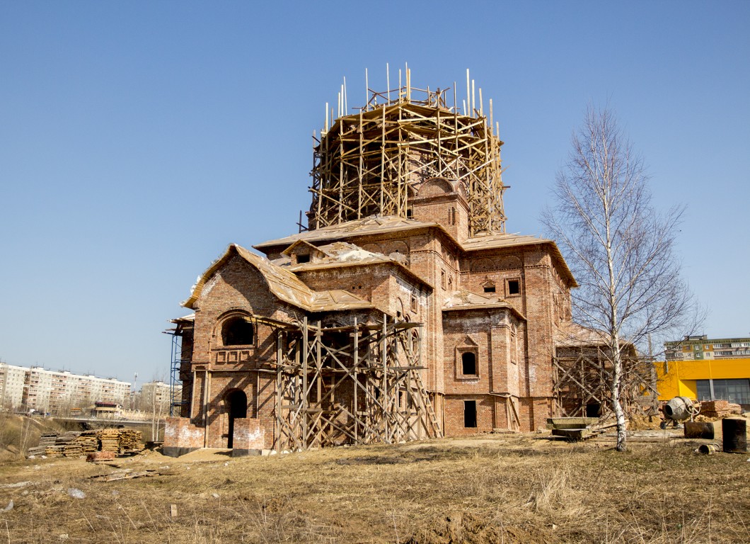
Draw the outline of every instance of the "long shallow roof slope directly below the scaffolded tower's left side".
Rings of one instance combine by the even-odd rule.
[[[399,230],[412,230],[419,227],[438,227],[440,230],[444,230],[443,227],[437,223],[416,221],[416,219],[404,219],[395,215],[371,215],[370,217],[357,219],[356,221],[348,221],[347,223],[331,225],[330,227],[307,230],[303,233],[287,236],[286,238],[269,240],[268,242],[254,245],[253,247],[263,251],[263,248],[272,248],[277,245],[292,245],[297,240],[306,240],[308,242],[333,240],[341,239],[346,236],[392,233]]]

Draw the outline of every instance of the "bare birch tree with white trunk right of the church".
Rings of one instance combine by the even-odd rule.
[[[606,346],[616,448],[625,451],[627,348],[691,328],[697,316],[674,253],[683,208],[654,209],[643,161],[610,110],[589,107],[571,143],[543,222],[580,286],[571,293],[574,320],[598,330]]]

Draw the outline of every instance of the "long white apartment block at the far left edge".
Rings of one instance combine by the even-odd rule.
[[[95,401],[124,404],[130,396],[130,383],[92,374],[51,371],[0,364],[2,405],[12,410],[65,412]]]

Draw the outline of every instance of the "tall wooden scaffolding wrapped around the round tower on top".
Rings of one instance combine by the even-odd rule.
[[[308,228],[313,230],[370,215],[410,216],[410,198],[434,178],[457,185],[469,204],[470,236],[505,232],[500,177],[499,125],[484,115],[479,89],[475,107],[468,72],[463,114],[447,107],[448,89],[416,89],[407,84],[387,92],[368,89],[359,113],[341,115],[315,137],[313,200]],[[455,85],[454,85],[455,89]],[[339,110],[345,112],[345,107]],[[333,112],[331,114],[333,118]],[[458,188],[460,187],[460,189]]]

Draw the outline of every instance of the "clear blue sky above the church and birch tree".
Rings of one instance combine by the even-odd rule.
[[[0,359],[166,378],[196,276],[296,232],[326,102],[386,62],[493,98],[509,232],[544,233],[586,104],[616,110],[655,203],[687,206],[704,332],[750,335],[748,28],[744,1],[0,0]]]

